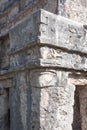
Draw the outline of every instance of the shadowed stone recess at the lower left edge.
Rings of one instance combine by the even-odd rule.
[[[9,97],[8,91],[0,86],[0,129],[9,130]]]

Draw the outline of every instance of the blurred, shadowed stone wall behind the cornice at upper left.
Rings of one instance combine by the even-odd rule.
[[[1,0],[0,33],[3,35],[16,23],[40,8],[57,13],[57,0]]]

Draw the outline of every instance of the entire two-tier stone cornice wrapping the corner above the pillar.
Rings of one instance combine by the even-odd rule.
[[[87,71],[86,31],[80,23],[38,10],[9,31],[8,70],[33,68]]]

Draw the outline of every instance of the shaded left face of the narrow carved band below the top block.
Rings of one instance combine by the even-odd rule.
[[[21,53],[20,53],[21,52]],[[22,51],[15,52],[10,56],[10,67],[17,67],[20,65],[25,65],[28,62],[38,59],[40,57],[39,47],[26,48]]]

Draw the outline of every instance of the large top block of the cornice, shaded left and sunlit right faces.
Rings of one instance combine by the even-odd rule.
[[[86,31],[80,23],[39,10],[9,32],[11,52],[36,43],[87,53]],[[15,53],[14,52],[14,53]]]

